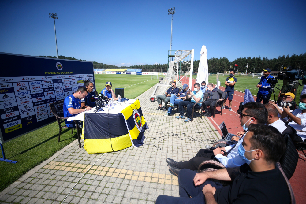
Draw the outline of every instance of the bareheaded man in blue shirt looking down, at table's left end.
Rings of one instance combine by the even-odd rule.
[[[87,107],[81,109],[81,99],[87,96],[87,90],[84,87],[80,87],[76,92],[72,95],[69,95],[64,100],[64,117],[72,117],[81,112],[90,110],[91,107]],[[69,128],[76,128],[76,124],[73,121],[65,120],[65,124]],[[78,124],[83,125],[83,121],[80,121]]]

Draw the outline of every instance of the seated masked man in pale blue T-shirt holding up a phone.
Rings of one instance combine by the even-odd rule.
[[[176,116],[175,118],[184,118],[184,106],[185,106],[187,107],[187,118],[185,122],[191,121],[190,118],[191,118],[193,105],[199,102],[195,105],[194,109],[200,109],[202,106],[203,98],[204,98],[203,92],[200,91],[200,84],[195,83],[193,87],[194,87],[194,91],[188,91],[186,95],[186,99],[191,98],[191,100],[181,101],[178,103],[178,108],[180,109],[180,115]]]

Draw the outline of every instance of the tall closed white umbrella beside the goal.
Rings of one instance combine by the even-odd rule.
[[[206,46],[203,45],[200,52],[200,63],[198,68],[198,74],[196,76],[196,83],[200,83],[205,81],[208,84],[208,65],[207,65],[207,49]]]

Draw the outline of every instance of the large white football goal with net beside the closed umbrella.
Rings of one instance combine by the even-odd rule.
[[[150,100],[157,95],[163,95],[171,87],[172,82],[177,83],[177,87],[183,87],[186,83],[192,87],[194,50],[177,50],[174,54],[173,61],[169,62],[167,75],[161,83],[158,83],[153,91]]]

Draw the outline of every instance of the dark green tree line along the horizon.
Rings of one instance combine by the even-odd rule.
[[[40,55],[39,57],[51,57],[51,58],[56,58],[55,56],[42,56]],[[86,61],[86,60],[81,60],[81,59],[76,59],[74,57],[65,57],[62,55],[58,56],[59,59],[69,59],[69,60],[80,60],[80,61]],[[195,60],[193,62],[193,72],[198,72],[198,67],[199,67],[200,60]],[[224,71],[230,71],[235,68],[235,72],[237,72],[237,66],[239,65],[238,72],[246,72],[246,66],[248,64],[248,72],[253,73],[254,72],[254,67],[255,67],[255,73],[261,72],[263,69],[270,68],[271,71],[281,71],[282,67],[288,67],[292,66],[293,69],[301,69],[305,70],[306,69],[306,53],[302,53],[300,55],[295,55],[292,54],[289,56],[283,55],[279,56],[278,58],[273,58],[269,59],[268,57],[263,57],[261,58],[260,56],[258,57],[239,57],[233,61],[229,61],[227,57],[220,57],[220,58],[215,58],[212,57],[207,60],[208,63],[208,72],[209,73],[224,73]],[[120,68],[120,69],[146,69],[146,70],[156,70],[160,69],[163,72],[167,72],[168,70],[168,64],[155,64],[155,65],[131,65],[131,66],[122,66],[118,67],[115,65],[108,65],[108,64],[103,64],[103,63],[98,63],[98,62],[93,62],[94,68]],[[232,66],[233,68],[230,68]],[[283,69],[284,70],[284,69]]]

